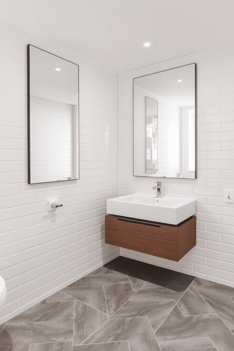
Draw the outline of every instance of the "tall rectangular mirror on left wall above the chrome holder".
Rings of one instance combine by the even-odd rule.
[[[79,66],[27,49],[28,184],[79,179]]]

